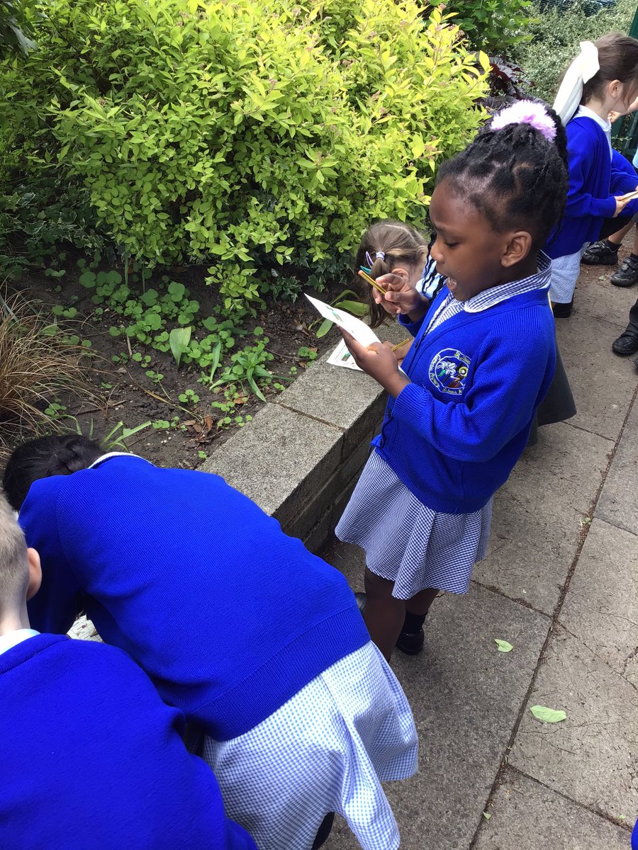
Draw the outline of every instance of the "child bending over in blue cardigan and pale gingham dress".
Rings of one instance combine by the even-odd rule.
[[[125,649],[204,730],[259,850],[317,847],[333,812],[366,850],[399,846],[380,783],[414,773],[416,731],[343,575],[217,475],[77,435],[22,445],[4,487],[42,556],[34,625],[83,608]]]

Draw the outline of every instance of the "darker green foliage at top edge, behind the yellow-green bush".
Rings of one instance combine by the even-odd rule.
[[[509,48],[527,40],[531,20],[531,0],[430,0],[427,6],[444,6],[454,13],[470,44],[488,54],[508,53]]]

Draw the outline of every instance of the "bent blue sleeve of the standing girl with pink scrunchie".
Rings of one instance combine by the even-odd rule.
[[[471,386],[459,402],[443,401],[430,390],[409,383],[397,396],[392,416],[427,440],[441,454],[465,462],[491,460],[531,422],[547,369],[553,373],[555,348],[551,341],[544,361],[529,368],[530,352],[521,340],[504,345],[493,335],[477,354],[479,363]],[[500,337],[500,338],[499,338]]]

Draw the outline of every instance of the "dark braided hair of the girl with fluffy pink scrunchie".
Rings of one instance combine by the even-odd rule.
[[[567,137],[561,119],[552,142],[531,124],[493,129],[488,123],[476,139],[441,165],[436,183],[445,182],[480,212],[497,232],[525,229],[533,248],[542,248],[560,222],[567,200]]]

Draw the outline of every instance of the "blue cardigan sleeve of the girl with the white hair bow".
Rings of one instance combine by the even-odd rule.
[[[567,133],[567,161],[569,163],[569,186],[565,215],[569,218],[594,216],[612,218],[616,212],[616,201],[612,195],[596,198],[586,189],[591,182],[592,169],[601,167],[602,156],[609,156],[609,148],[601,150],[596,137],[586,133],[576,122],[570,122]]]

